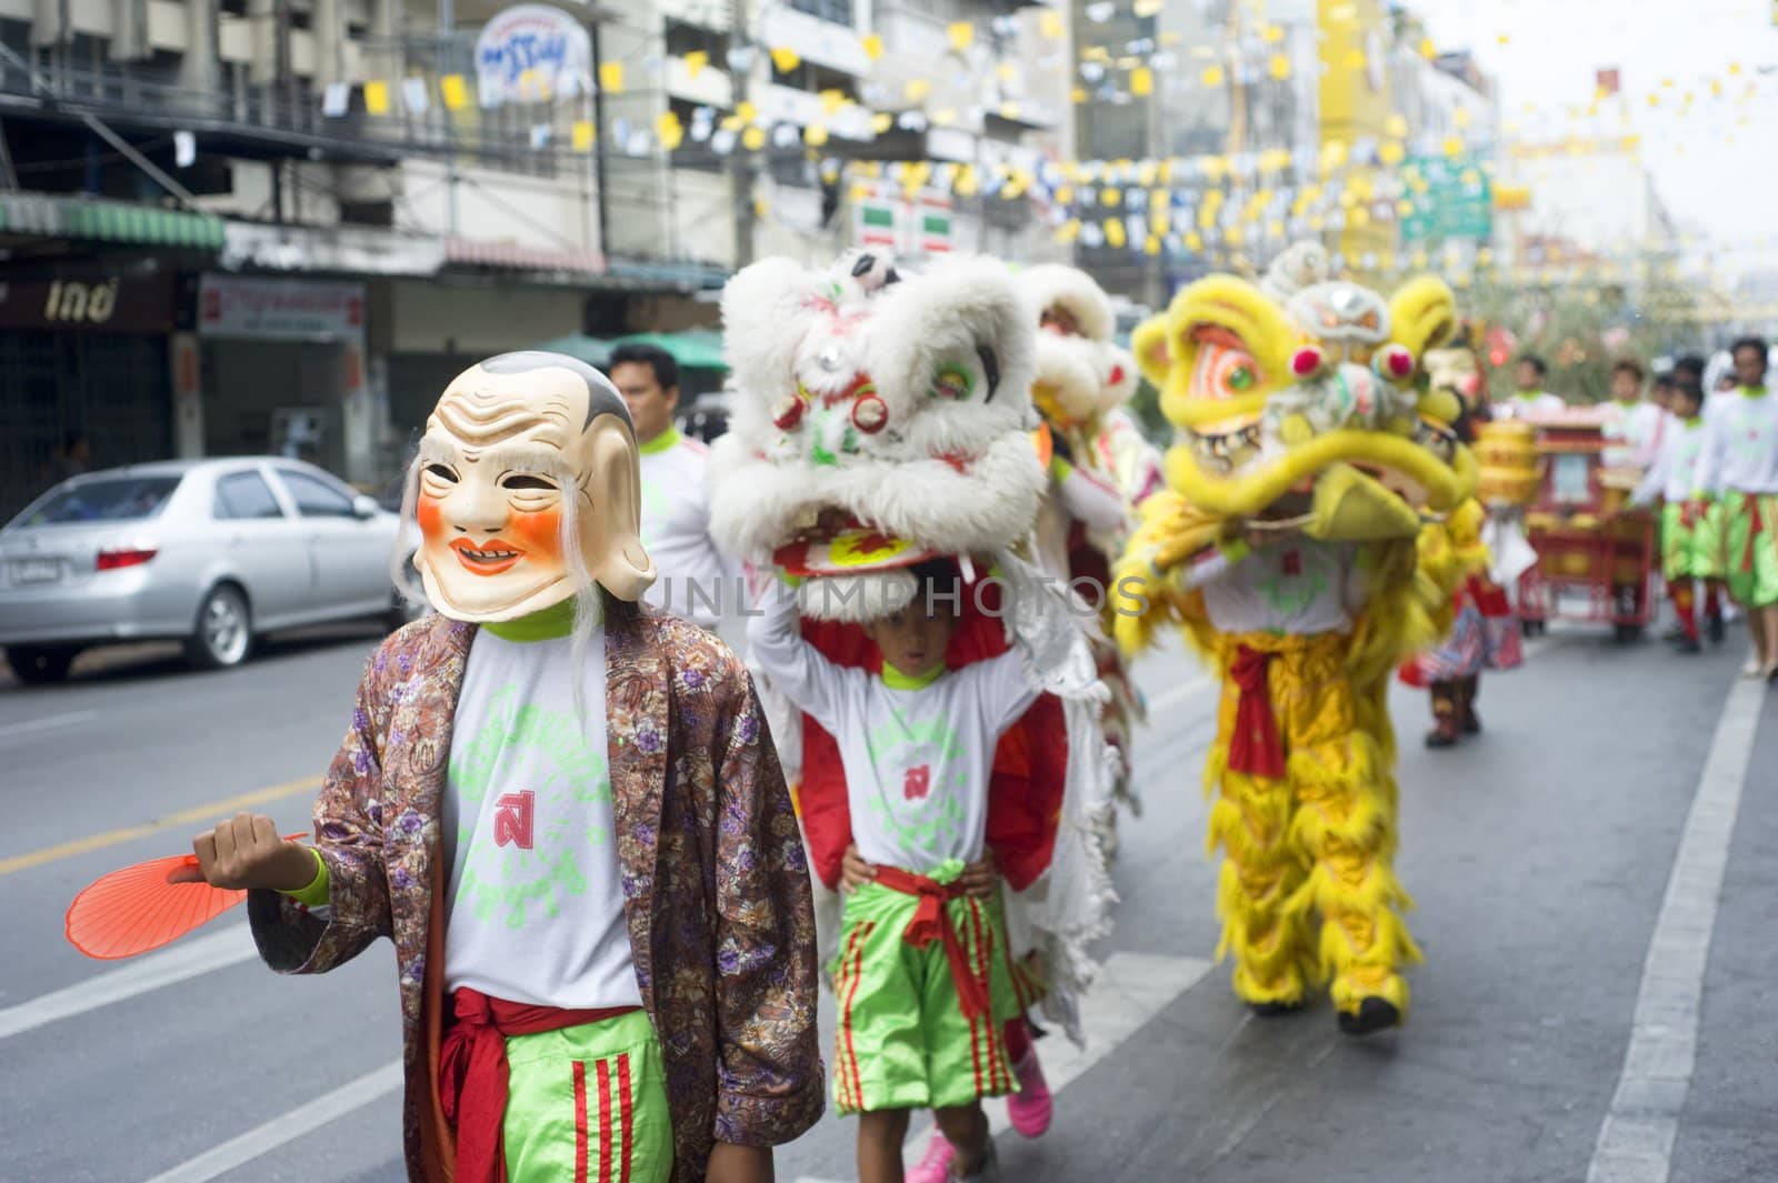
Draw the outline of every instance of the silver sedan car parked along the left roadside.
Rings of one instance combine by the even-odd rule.
[[[409,613],[389,583],[400,519],[300,460],[164,460],[73,476],[0,529],[0,645],[27,682],[82,648],[181,639],[197,668],[254,636]]]

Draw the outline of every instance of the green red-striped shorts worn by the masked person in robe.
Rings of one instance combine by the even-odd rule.
[[[672,1114],[645,1011],[507,1037],[507,1183],[667,1183]]]

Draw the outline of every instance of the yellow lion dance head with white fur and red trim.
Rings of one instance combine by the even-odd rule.
[[[1385,298],[1330,279],[1319,243],[1296,243],[1259,282],[1184,288],[1133,339],[1177,442],[1120,572],[1161,574],[1234,529],[1410,544],[1454,513],[1476,460],[1453,428],[1462,401],[1426,389],[1421,359],[1456,323],[1442,281]],[[1120,620],[1120,639],[1136,647],[1150,625]]]

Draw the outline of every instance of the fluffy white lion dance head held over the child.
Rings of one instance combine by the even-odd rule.
[[[1001,263],[765,259],[729,281],[722,322],[738,400],[711,535],[804,577],[807,615],[887,615],[916,592],[910,565],[985,558],[1029,529],[1037,325]]]

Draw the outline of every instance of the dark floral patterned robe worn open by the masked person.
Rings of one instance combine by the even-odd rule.
[[[674,1183],[711,1144],[775,1146],[821,1116],[809,870],[745,666],[683,620],[606,613],[606,718],[624,913],[667,1064]],[[443,998],[439,815],[475,625],[427,616],[382,643],[315,803],[327,918],[276,892],[249,917],[267,965],[324,973],[379,936],[400,973],[409,1178],[444,1183],[434,1087]]]

